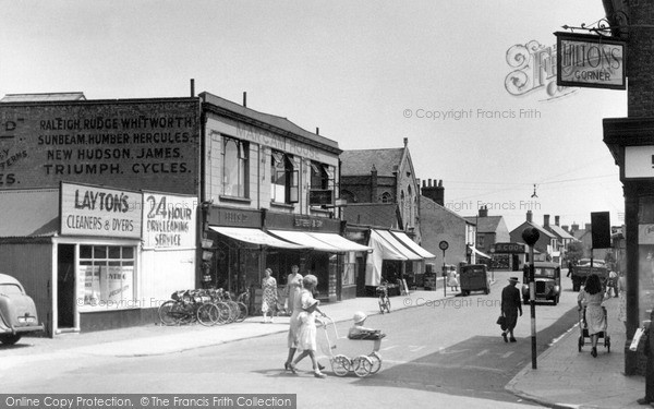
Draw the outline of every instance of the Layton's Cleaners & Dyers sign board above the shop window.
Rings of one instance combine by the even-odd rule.
[[[61,234],[141,238],[142,194],[61,183]]]

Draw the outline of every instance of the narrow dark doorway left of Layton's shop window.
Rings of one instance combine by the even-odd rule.
[[[75,245],[57,245],[58,327],[75,326]]]

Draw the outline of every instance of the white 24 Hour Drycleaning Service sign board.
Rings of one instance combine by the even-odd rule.
[[[143,193],[144,249],[194,249],[197,197]]]

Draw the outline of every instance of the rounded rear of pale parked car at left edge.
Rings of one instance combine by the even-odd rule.
[[[34,300],[12,276],[0,274],[0,342],[16,344],[27,333],[44,330]]]

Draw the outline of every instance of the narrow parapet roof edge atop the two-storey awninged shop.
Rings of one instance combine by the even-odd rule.
[[[298,127],[293,122],[289,121],[287,118],[274,116],[270,113],[264,113],[259,111],[255,111],[252,108],[244,107],[237,103],[232,103],[231,100],[227,100],[219,96],[209,94],[209,93],[201,93],[199,97],[207,104],[210,104],[215,107],[228,110],[230,112],[237,113],[239,116],[254,119],[263,124],[272,125],[279,130],[290,132],[298,136],[305,137],[310,141],[327,145],[332,149],[337,149],[340,154],[341,149],[338,147],[338,142],[330,140],[325,136],[320,136],[316,133],[308,132],[307,130]]]

